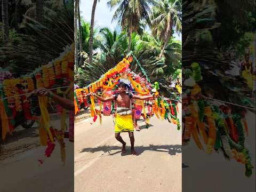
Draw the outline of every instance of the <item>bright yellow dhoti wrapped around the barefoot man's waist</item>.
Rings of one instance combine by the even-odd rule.
[[[133,132],[132,115],[116,115],[115,132]]]

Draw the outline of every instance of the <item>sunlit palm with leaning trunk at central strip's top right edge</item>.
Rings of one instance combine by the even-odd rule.
[[[159,58],[162,57],[164,50],[169,42],[173,30],[181,32],[181,1],[180,0],[161,0],[153,7],[151,15],[152,34],[164,42]]]

